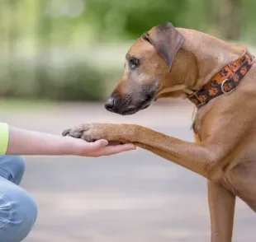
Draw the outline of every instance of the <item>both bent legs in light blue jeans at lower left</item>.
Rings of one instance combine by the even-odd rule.
[[[37,217],[36,202],[19,187],[25,162],[21,156],[0,156],[0,241],[21,242]]]

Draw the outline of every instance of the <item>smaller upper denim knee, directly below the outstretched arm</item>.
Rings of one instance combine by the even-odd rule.
[[[0,175],[15,184],[20,184],[25,169],[26,164],[23,156],[0,157]]]

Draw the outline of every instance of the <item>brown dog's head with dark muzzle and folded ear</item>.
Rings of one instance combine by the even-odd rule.
[[[183,95],[191,54],[181,49],[184,36],[171,23],[154,26],[126,54],[125,73],[107,100],[107,110],[127,115],[161,97]]]

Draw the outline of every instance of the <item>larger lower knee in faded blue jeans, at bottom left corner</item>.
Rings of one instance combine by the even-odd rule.
[[[5,242],[20,242],[36,222],[37,206],[22,188],[0,193],[0,238]]]

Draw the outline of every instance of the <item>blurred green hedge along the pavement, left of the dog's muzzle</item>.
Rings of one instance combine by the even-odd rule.
[[[0,96],[47,100],[102,100],[105,76],[85,61],[33,63],[12,60],[0,68]],[[8,71],[7,71],[8,70]]]

